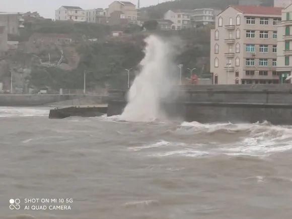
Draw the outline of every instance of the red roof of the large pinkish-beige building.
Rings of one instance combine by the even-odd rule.
[[[232,6],[233,8],[241,11],[243,14],[254,15],[281,15],[282,8],[264,7],[264,6]]]

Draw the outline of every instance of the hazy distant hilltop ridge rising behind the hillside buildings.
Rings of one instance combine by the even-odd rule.
[[[161,3],[142,9],[142,15],[153,19],[163,18],[163,15],[170,9],[197,9],[214,8],[225,9],[229,5],[238,4],[239,0],[176,0]],[[262,5],[271,5],[273,0],[261,0]]]

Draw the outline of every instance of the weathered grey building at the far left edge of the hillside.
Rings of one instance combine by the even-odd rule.
[[[0,26],[6,26],[7,33],[19,35],[19,29],[24,28],[24,19],[21,13],[0,12]]]

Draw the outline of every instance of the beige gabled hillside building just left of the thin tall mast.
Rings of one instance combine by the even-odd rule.
[[[121,12],[121,19],[127,19],[129,23],[137,23],[137,9],[131,2],[114,1],[107,9],[107,17],[112,17],[114,12]]]

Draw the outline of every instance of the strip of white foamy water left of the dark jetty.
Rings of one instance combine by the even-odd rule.
[[[0,107],[0,117],[48,116],[49,108]]]

